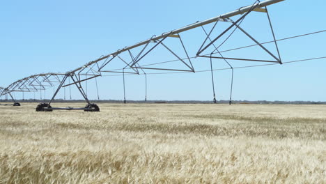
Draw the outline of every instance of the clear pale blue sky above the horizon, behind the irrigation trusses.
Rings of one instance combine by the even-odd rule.
[[[3,1],[0,6],[0,86],[8,86],[17,79],[41,72],[66,72],[101,55],[150,38],[153,34],[160,35],[253,2]],[[269,6],[276,37],[286,38],[326,29],[325,7],[324,0],[286,0]],[[253,13],[250,16],[242,23],[244,29],[262,42],[269,41],[271,37],[267,32],[265,15]],[[222,25],[222,28],[226,23],[218,25]],[[196,49],[204,38],[201,29],[185,35],[190,56],[196,54]],[[282,59],[293,61],[325,56],[325,41],[324,32],[279,42]],[[248,38],[235,33],[224,48],[248,44],[252,44]],[[271,46],[270,48],[272,49]],[[153,62],[168,59],[163,52],[155,56]],[[256,49],[244,49],[229,53],[228,56],[265,57],[263,52]],[[207,59],[195,59],[193,63],[196,70],[209,68]],[[256,64],[242,61],[231,63],[234,66]],[[215,68],[226,67],[222,61],[216,61],[214,65]],[[238,69],[235,70],[233,99],[326,101],[325,69],[325,59],[284,66]],[[217,100],[228,99],[230,72],[215,72]],[[123,99],[122,81],[121,76],[98,78],[100,98]],[[126,77],[128,100],[143,99],[143,83],[143,76]],[[52,93],[53,89],[47,90],[46,97],[49,98]],[[22,96],[21,93],[15,95],[17,98]],[[88,83],[88,95],[91,99],[96,98],[93,80]],[[25,98],[33,98],[33,94],[25,93]],[[63,98],[62,92],[59,98]],[[77,91],[73,91],[73,98],[80,98]],[[148,75],[148,99],[212,100],[210,73]]]

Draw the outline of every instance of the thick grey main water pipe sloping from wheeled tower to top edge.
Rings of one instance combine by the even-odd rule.
[[[155,37],[150,38],[148,40],[144,40],[144,41],[142,41],[140,43],[136,43],[134,45],[131,45],[129,47],[125,47],[123,49],[118,49],[118,51],[116,51],[116,52],[113,52],[111,54],[108,54],[107,56],[103,56],[100,59],[97,59],[95,61],[91,61],[91,62],[87,63],[84,66],[81,66],[81,67],[79,67],[79,68],[77,68],[75,70],[72,70],[71,72],[77,72],[78,70],[81,70],[81,69],[83,69],[83,68],[85,68],[87,66],[91,66],[94,63],[98,63],[98,61],[102,61],[103,59],[107,59],[110,56],[116,56],[117,54],[120,54],[121,52],[125,52],[127,50],[134,49],[134,48],[139,47],[141,45],[145,45],[145,44],[149,43],[150,41],[160,40],[160,39],[165,38],[166,36],[169,36],[169,35],[175,35],[175,34],[178,34],[178,33],[182,33],[184,31],[188,31],[190,29],[197,28],[199,26],[210,24],[212,22],[216,22],[216,21],[219,21],[219,20],[224,20],[224,19],[227,19],[229,17],[234,17],[235,15],[241,15],[243,13],[248,12],[251,9],[251,7],[255,7],[256,6],[256,8],[263,8],[265,6],[270,6],[271,4],[279,3],[281,1],[285,1],[285,0],[265,0],[265,1],[262,1],[262,2],[259,2],[259,3],[255,3],[254,5],[244,6],[242,8],[239,8],[238,10],[234,10],[234,11],[229,12],[229,13],[224,13],[223,15],[219,15],[217,17],[212,17],[212,18],[210,18],[208,20],[204,20],[204,21],[201,21],[201,22],[196,22],[194,24],[189,24],[189,25],[184,26],[184,27],[182,27],[180,29],[175,29],[173,31],[162,33],[162,35],[160,35],[160,36],[155,36]]]

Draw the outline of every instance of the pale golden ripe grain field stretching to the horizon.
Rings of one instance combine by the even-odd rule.
[[[326,183],[326,105],[36,105],[0,107],[0,183]]]

